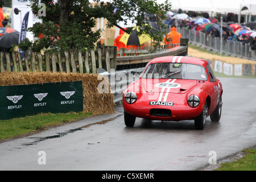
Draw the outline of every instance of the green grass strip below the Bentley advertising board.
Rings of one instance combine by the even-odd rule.
[[[5,139],[38,133],[39,131],[46,130],[49,127],[60,126],[64,123],[79,121],[80,119],[89,117],[90,115],[92,115],[92,113],[48,113],[23,118],[1,120],[0,142]]]

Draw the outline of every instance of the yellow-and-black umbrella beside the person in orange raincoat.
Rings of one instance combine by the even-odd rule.
[[[133,26],[133,31],[131,34],[125,34],[122,35],[122,37],[119,39],[119,42],[124,43],[126,46],[141,46],[143,43],[147,42],[148,40],[151,40],[150,36],[146,34],[138,35],[139,29],[137,26]]]

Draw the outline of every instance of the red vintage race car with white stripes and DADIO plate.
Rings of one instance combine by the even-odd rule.
[[[133,127],[136,117],[160,121],[195,120],[203,130],[210,115],[221,118],[222,84],[203,59],[166,56],[152,59],[138,80],[123,90],[125,125]]]

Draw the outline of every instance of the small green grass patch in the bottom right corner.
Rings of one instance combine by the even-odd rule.
[[[256,148],[243,150],[245,156],[235,162],[222,163],[216,171],[256,171]]]

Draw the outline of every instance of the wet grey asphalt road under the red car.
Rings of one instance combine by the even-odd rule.
[[[256,146],[256,79],[220,80],[222,117],[218,123],[208,117],[204,130],[195,130],[193,121],[140,118],[128,128],[119,106],[114,114],[1,143],[0,170],[203,169],[212,154],[218,161]]]

